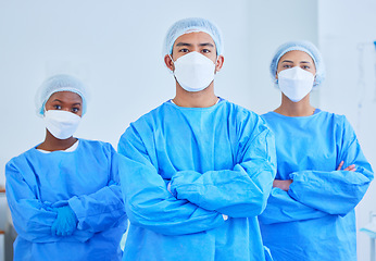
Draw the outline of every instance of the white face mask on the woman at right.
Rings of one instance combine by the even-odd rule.
[[[279,89],[293,102],[303,99],[312,90],[314,75],[294,66],[278,73]]]

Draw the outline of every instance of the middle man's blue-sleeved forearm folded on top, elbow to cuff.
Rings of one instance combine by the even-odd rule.
[[[178,172],[171,187],[178,199],[233,217],[247,217],[263,211],[273,178],[272,164],[260,160],[237,164],[231,171]]]

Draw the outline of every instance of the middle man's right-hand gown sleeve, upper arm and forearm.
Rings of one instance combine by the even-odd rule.
[[[259,117],[256,122],[247,120],[239,132],[238,163],[234,169],[202,174],[177,172],[171,182],[177,199],[231,217],[262,213],[276,174],[274,135]]]

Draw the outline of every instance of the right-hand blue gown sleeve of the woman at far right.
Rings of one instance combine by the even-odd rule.
[[[355,164],[356,171],[301,171],[290,174],[293,179],[288,194],[294,200],[328,214],[346,215],[361,201],[373,170],[365,159],[354,130],[343,117],[342,138],[338,146],[339,162]]]

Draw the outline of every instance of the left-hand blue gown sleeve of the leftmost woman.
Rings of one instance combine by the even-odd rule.
[[[36,191],[38,188],[30,186],[24,178],[23,172],[27,170],[13,161],[5,166],[7,199],[14,228],[18,236],[28,241],[60,241],[61,237],[51,234],[51,226],[57,219],[57,213],[51,208],[52,202],[41,202],[38,199]],[[91,236],[91,233],[76,232],[71,238],[86,241]]]

